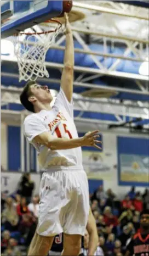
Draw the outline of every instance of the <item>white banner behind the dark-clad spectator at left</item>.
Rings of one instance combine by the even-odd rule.
[[[8,194],[14,193],[18,184],[21,180],[22,173],[21,172],[5,172],[1,171],[1,191],[7,191]],[[39,174],[31,174],[31,180],[35,182],[35,190],[33,194],[39,194],[39,184],[41,181],[41,177]]]

